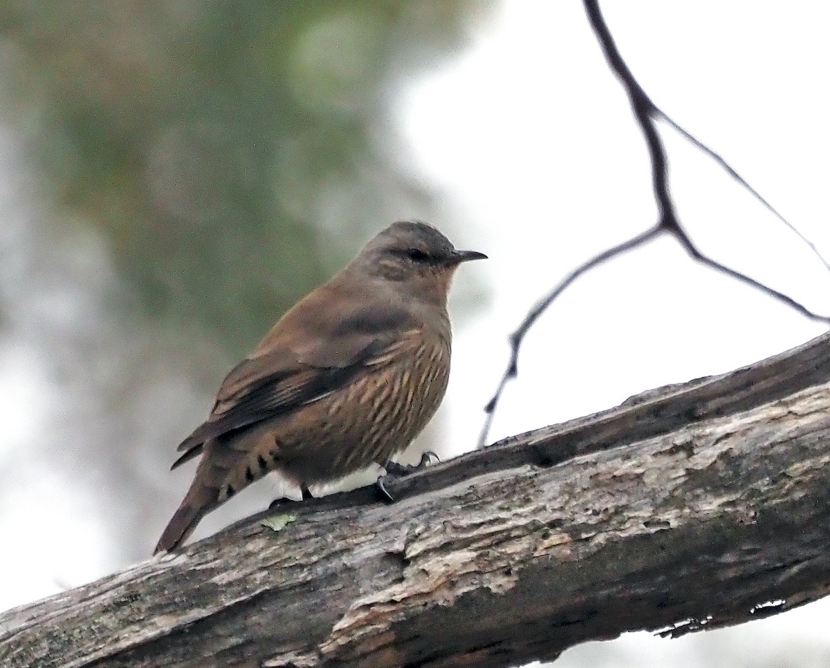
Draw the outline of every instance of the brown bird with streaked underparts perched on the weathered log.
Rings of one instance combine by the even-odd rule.
[[[328,283],[295,303],[227,374],[207,420],[171,470],[201,455],[154,554],[182,545],[208,512],[269,472],[300,486],[335,482],[412,443],[447,390],[447,293],[461,263],[436,227],[398,221]]]

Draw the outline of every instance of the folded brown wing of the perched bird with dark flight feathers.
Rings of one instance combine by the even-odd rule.
[[[419,345],[406,309],[368,300],[329,283],[297,303],[222,382],[210,417],[179,446],[173,468],[220,438],[328,395],[369,366]],[[377,303],[375,300],[374,303]]]

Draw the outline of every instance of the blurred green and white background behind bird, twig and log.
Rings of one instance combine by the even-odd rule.
[[[657,104],[830,256],[830,10],[603,10]],[[830,312],[808,249],[662,134],[701,248]],[[408,218],[491,257],[457,278],[451,387],[420,443],[449,457],[475,447],[525,312],[655,220],[642,138],[579,2],[0,0],[0,609],[148,557],[193,473],[168,471],[175,445],[223,375]],[[661,240],[554,303],[491,440],[822,331]],[[279,493],[259,483],[196,537]],[[827,666],[828,611],[627,634],[556,665]]]

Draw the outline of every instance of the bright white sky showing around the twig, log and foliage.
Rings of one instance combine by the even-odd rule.
[[[830,10],[818,2],[641,0],[604,2],[603,11],[652,99],[830,257]],[[507,336],[530,306],[584,259],[653,224],[647,155],[579,2],[505,2],[459,60],[400,96],[398,114],[411,159],[446,194],[447,220],[466,221],[454,240],[491,256],[463,268],[457,281],[463,293],[472,283],[465,273],[477,273],[492,295],[456,334],[443,415],[447,440],[461,452],[476,442],[481,407],[504,370]],[[671,131],[663,138],[681,222],[701,248],[830,312],[830,276],[795,236]],[[822,331],[691,264],[662,240],[588,274],[549,309],[525,342],[520,377],[502,399],[491,440],[606,409],[657,385],[731,370]],[[37,378],[37,365],[13,363]],[[2,388],[12,371],[3,368],[0,393],[7,396]],[[17,380],[9,386],[19,387]],[[26,385],[12,397],[17,404],[0,406],[12,441],[27,432],[21,416],[37,418],[36,395]],[[29,494],[15,502],[33,502],[37,488]],[[83,533],[88,525],[73,525],[58,511],[48,540],[94,542]],[[22,529],[4,525],[3,533]],[[18,577],[13,591],[0,593],[0,609],[60,587],[44,576],[53,572],[48,564],[9,566]],[[95,568],[94,560],[61,564],[80,582]],[[784,658],[799,642],[818,643],[823,654],[815,665],[826,666],[827,611],[818,603],[681,641],[635,634],[612,649],[603,645],[603,661],[710,666],[718,643],[751,639],[764,656]],[[715,640],[725,633],[734,635]],[[598,661],[593,651],[569,651],[557,665],[591,664]]]

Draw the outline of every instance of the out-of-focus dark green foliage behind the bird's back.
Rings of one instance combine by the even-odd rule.
[[[140,312],[198,323],[232,359],[345,259],[323,194],[383,163],[369,128],[388,85],[460,46],[483,7],[2,0],[0,109],[56,220],[105,236]]]

